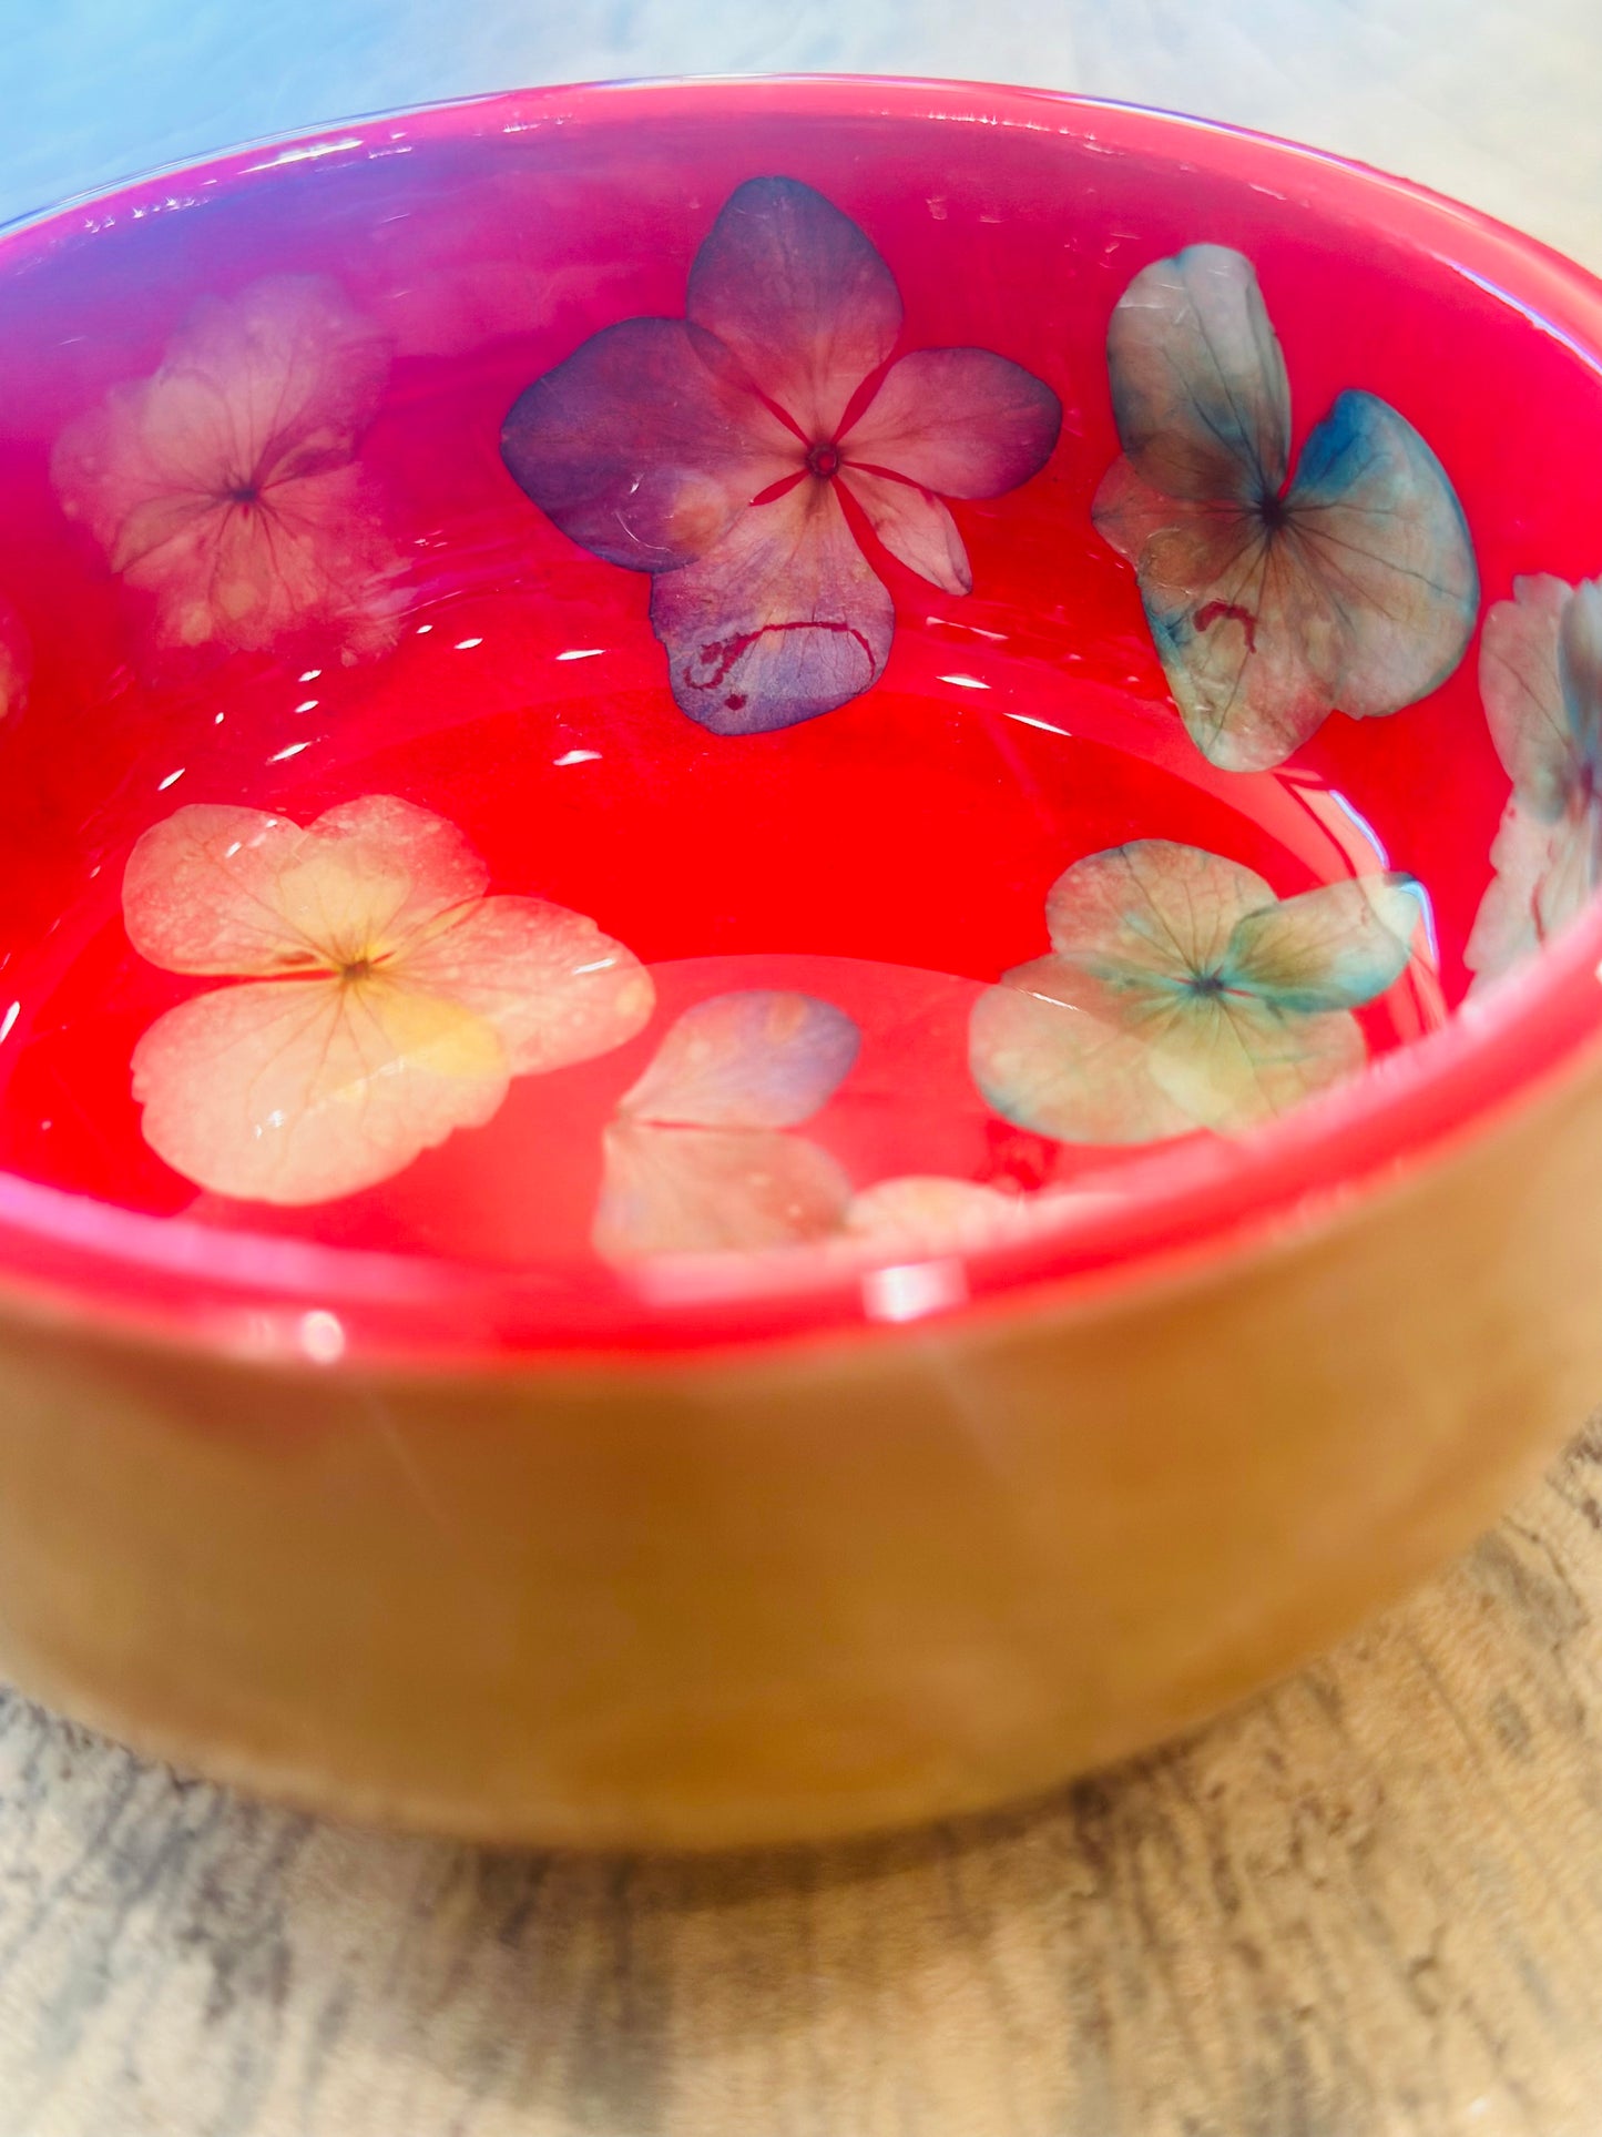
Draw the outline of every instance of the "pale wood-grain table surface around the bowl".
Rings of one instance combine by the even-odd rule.
[[[179,64],[205,11],[150,6],[167,43],[126,32],[94,107],[113,167],[154,160],[113,141],[147,109],[141,51],[179,98],[209,79]],[[331,34],[355,13],[318,0]],[[393,11],[397,41],[421,13]],[[696,38],[739,19],[731,64],[1200,109],[1602,267],[1598,0],[820,0],[805,47],[780,0],[577,4],[581,66],[545,64],[540,9],[436,13],[483,75],[449,88],[705,66]],[[395,51],[335,105],[429,94],[423,49],[414,81]],[[252,130],[164,124],[164,150]],[[1602,2133],[1602,1430],[1427,1592],[1198,1740],[857,1846],[602,1861],[344,1831],[0,1695],[0,2137],[581,2133]]]

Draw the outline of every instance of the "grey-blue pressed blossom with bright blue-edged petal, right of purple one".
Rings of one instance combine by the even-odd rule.
[[[1096,526],[1141,581],[1192,739],[1277,765],[1331,712],[1435,690],[1474,630],[1478,573],[1440,462],[1373,393],[1341,393],[1290,472],[1290,385],[1252,263],[1156,261],[1113,312],[1124,457]]]

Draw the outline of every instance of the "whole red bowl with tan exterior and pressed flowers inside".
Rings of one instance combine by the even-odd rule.
[[[1602,291],[1040,92],[0,239],[0,1667],[312,1806],[1045,1789],[1602,1391]]]

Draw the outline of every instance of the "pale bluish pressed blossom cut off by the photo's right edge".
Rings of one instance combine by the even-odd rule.
[[[1532,957],[1602,876],[1602,579],[1514,579],[1485,620],[1480,697],[1512,780],[1463,953],[1485,981]]]

